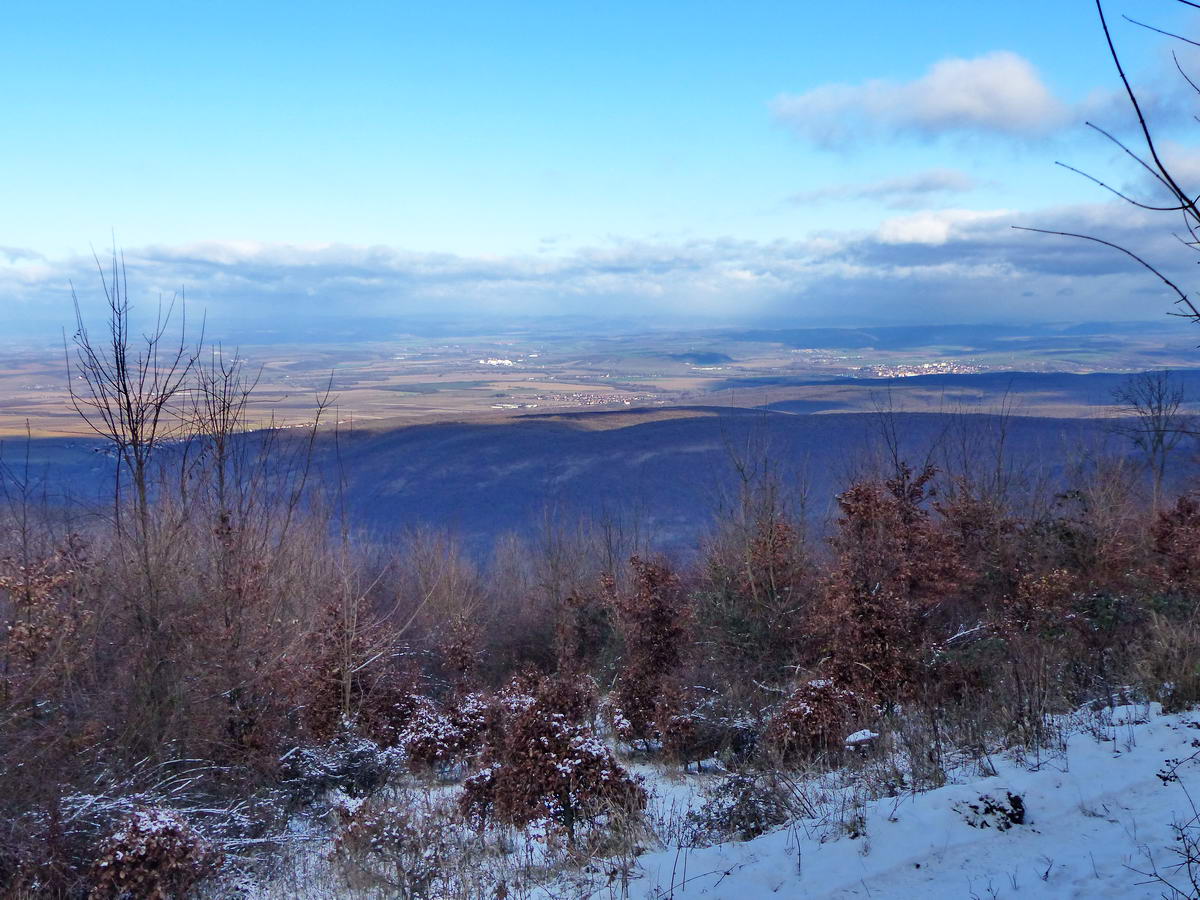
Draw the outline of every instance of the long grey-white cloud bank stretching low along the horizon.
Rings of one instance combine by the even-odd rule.
[[[1194,275],[1194,258],[1160,221],[1109,205],[1037,215],[926,210],[857,234],[772,242],[614,240],[557,257],[232,242],[125,256],[131,296],[143,308],[185,286],[193,314],[204,310],[214,334],[234,336],[246,329],[328,332],[379,320],[402,332],[413,317],[638,317],[698,326],[1148,319],[1172,308],[1160,286],[1123,254],[1013,224],[1100,235],[1183,283]],[[98,306],[92,260],[16,258],[22,262],[0,265],[0,322],[8,334],[54,340],[70,322],[68,280],[85,305]]]

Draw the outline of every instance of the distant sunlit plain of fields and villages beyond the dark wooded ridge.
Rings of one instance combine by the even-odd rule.
[[[1121,373],[1195,364],[1177,323],[1104,326],[540,332],[461,338],[246,346],[259,372],[256,425],[299,425],[330,391],[354,427],[505,421],[547,412],[679,406],[787,412],[1105,414],[1110,382],[1006,380],[1006,373]],[[205,353],[220,353],[220,347]],[[229,348],[224,353],[232,353]],[[988,379],[960,376],[991,374]],[[646,415],[646,413],[642,413]],[[0,349],[0,434],[84,433],[70,408],[61,347]]]

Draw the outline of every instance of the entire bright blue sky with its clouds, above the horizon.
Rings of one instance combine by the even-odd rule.
[[[895,317],[878,293],[902,281],[908,318],[962,318],[989,268],[1000,317],[1057,314],[980,229],[1104,224],[1056,158],[1139,186],[1082,127],[1127,119],[1086,0],[118,6],[6,10],[5,318],[56,308],[114,232],[139,289],[184,283],[218,316],[827,320],[847,299]],[[1118,25],[1192,164],[1169,42]],[[958,257],[906,265],[907,245],[983,256],[935,278]],[[1054,295],[1103,282],[1096,317],[1128,308],[1141,282],[1096,259]]]

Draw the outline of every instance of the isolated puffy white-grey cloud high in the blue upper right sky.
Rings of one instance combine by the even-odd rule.
[[[826,146],[896,133],[1037,137],[1072,118],[1033,64],[1007,50],[941,60],[912,82],[874,79],[785,94],[772,107],[780,121]]]

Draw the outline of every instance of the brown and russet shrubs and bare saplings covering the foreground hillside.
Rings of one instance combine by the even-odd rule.
[[[1120,457],[1045,488],[884,452],[820,539],[744,458],[686,563],[570,521],[473,558],[353,534],[311,436],[232,425],[86,511],[6,473],[8,894],[257,893],[319,858],[344,895],[620,895],[655,842],[812,814],[781,785],[869,761],[857,802],[911,794],[1084,704],[1200,698],[1200,502],[1153,511]],[[672,769],[712,793],[664,830]]]

